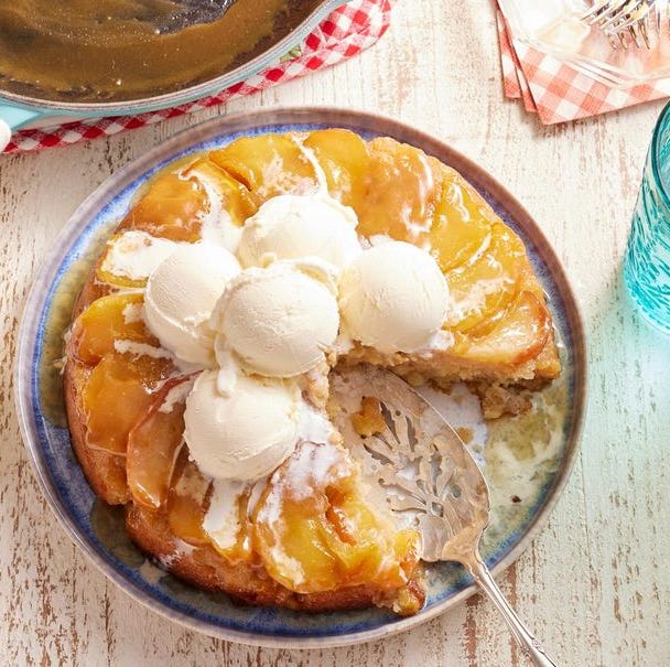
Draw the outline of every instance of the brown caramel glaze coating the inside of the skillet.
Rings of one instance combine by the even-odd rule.
[[[266,51],[320,4],[216,1],[1,2],[0,88],[71,103],[172,93]]]

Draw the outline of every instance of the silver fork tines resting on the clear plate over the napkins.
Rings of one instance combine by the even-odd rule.
[[[628,49],[630,42],[651,49],[650,28],[658,37],[668,20],[669,0],[596,0],[581,19],[596,25],[614,47]]]

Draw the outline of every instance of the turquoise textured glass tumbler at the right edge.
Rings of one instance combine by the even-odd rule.
[[[624,280],[640,314],[670,334],[670,105],[656,123],[647,154]]]

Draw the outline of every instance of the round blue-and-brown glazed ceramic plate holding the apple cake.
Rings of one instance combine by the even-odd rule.
[[[105,238],[138,189],[161,166],[190,153],[266,132],[342,127],[364,138],[389,136],[458,170],[523,239],[548,294],[563,372],[519,418],[484,424],[477,454],[491,487],[493,521],[483,555],[501,572],[543,526],[577,452],[585,392],[582,324],[555,254],[526,209],[482,168],[441,141],[395,120],[338,109],[279,109],[227,116],[193,127],[108,179],[75,212],[54,244],[25,308],[15,367],[17,406],[35,473],[63,527],[86,556],[128,594],[192,630],[224,639],[277,647],[325,647],[379,639],[413,627],[475,592],[460,566],[426,569],[425,607],[401,618],[370,609],[310,615],[239,605],[186,585],[145,560],[128,540],[122,510],[90,491],[72,451],[61,394],[72,304]],[[458,416],[454,416],[458,420]]]

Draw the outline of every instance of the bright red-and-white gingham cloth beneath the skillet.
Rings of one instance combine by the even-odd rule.
[[[368,49],[386,32],[395,1],[350,0],[336,9],[279,62],[210,97],[138,116],[95,118],[54,128],[20,130],[14,132],[4,152],[42,150],[133,130],[166,118],[227,103],[236,97],[304,76],[315,69],[335,65]]]

